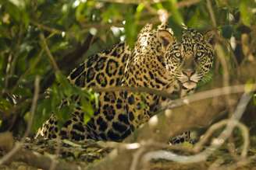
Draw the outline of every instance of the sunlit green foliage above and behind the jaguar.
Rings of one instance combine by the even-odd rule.
[[[133,47],[141,26],[145,23],[160,23],[161,12],[169,13],[169,25],[180,36],[180,28],[186,26],[202,31],[217,29],[229,42],[231,37],[240,40],[243,33],[251,33],[255,23],[253,0],[212,1],[216,26],[212,24],[207,2],[198,1],[183,5],[186,1],[159,1],[151,3],[115,3],[115,1],[94,0],[0,0],[0,125],[2,130],[20,130],[30,112],[34,95],[34,79],[41,77],[40,100],[35,114],[34,129],[54,111],[66,119],[69,109],[74,108],[72,95],[82,96],[82,106],[90,111],[94,93],[73,87],[64,78],[70,69],[85,57],[111,47],[125,39]],[[189,2],[189,1],[187,1]],[[48,48],[62,72],[52,66],[40,35],[44,35]],[[88,35],[94,35],[87,51],[83,48]],[[88,45],[88,44],[86,44]],[[238,44],[239,45],[239,44]],[[239,46],[237,46],[239,47]],[[225,49],[226,56],[233,63],[244,58],[241,48]],[[79,49],[80,49],[79,48]],[[86,52],[86,54],[85,54]],[[237,53],[237,55],[233,55]],[[63,62],[74,57],[72,62]],[[222,68],[219,69],[222,71]],[[212,75],[210,75],[211,77]],[[56,79],[56,80],[55,80]],[[206,82],[209,82],[208,78]],[[44,98],[45,89],[51,87],[50,98]],[[70,99],[70,108],[59,113],[58,106],[63,96]],[[15,126],[17,125],[17,126]]]

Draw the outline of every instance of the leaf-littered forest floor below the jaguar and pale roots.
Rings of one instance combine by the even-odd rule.
[[[17,151],[4,165],[0,165],[0,169],[79,169],[79,167],[80,169],[87,169],[87,165],[100,162],[101,159],[105,158],[111,151],[113,151],[113,148],[108,147],[108,144],[105,144],[105,142],[86,141],[82,144],[62,141],[62,143],[59,144],[56,141],[31,140],[27,138],[20,148],[20,151]],[[248,149],[247,158],[251,157],[251,160],[244,161],[244,164],[237,164],[240,159],[240,156],[237,155],[240,154],[240,148],[236,148],[234,151],[236,153],[232,152],[233,151],[230,151],[230,147],[224,144],[218,151],[215,151],[207,161],[179,164],[173,161],[158,159],[145,165],[144,169],[256,169],[256,159],[253,156],[256,154],[256,147],[250,147]],[[57,154],[59,156],[56,156]],[[189,153],[184,151],[179,151],[179,154],[189,155]],[[5,152],[0,150],[0,156],[2,158],[5,157]],[[111,164],[111,162],[109,162],[109,164]]]

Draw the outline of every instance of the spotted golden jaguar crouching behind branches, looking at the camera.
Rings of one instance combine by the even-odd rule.
[[[184,29],[181,40],[177,40],[166,24],[158,28],[147,24],[140,30],[133,50],[126,43],[119,43],[111,50],[89,57],[68,79],[81,88],[146,87],[183,97],[194,92],[212,68],[211,42],[211,33],[203,35],[195,29]],[[146,123],[166,99],[124,90],[99,92],[98,101],[87,123],[84,123],[85,113],[78,106],[61,129],[52,114],[36,137],[123,141]],[[181,139],[176,137],[174,141],[179,143]]]

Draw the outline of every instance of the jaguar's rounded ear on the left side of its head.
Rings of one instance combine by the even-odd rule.
[[[158,30],[157,36],[159,42],[162,43],[162,47],[165,49],[175,41],[175,37],[165,29]]]

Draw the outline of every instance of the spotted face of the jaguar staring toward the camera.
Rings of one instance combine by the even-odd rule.
[[[174,37],[167,38],[172,35],[162,34],[165,35],[165,41],[169,42],[165,51],[166,69],[183,88],[194,89],[197,82],[212,68],[214,53],[209,43],[212,36],[203,36],[194,29],[186,29],[182,40],[178,42]]]

